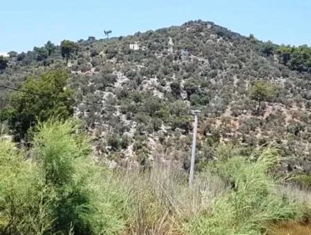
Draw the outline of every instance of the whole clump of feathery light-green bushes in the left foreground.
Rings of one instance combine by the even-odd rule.
[[[73,121],[39,124],[31,160],[1,139],[1,234],[116,234],[122,193]],[[104,181],[107,180],[106,182]]]

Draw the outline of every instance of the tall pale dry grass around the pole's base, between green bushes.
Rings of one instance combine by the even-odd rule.
[[[131,169],[116,174],[131,208],[124,234],[184,234],[184,224],[209,210],[225,191],[219,178],[206,173],[189,189],[187,173],[161,165],[148,172]]]

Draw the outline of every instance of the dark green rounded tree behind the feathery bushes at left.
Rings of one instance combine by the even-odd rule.
[[[73,115],[73,90],[68,87],[66,71],[50,71],[39,78],[28,77],[20,91],[12,95],[8,120],[15,138],[24,138],[39,120]]]

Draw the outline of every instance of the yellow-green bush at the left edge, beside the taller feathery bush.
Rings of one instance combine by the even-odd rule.
[[[35,164],[0,137],[0,234],[44,234],[53,217]]]

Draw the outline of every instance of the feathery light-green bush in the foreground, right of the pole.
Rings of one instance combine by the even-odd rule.
[[[232,190],[219,198],[211,212],[186,225],[189,234],[262,234],[269,223],[303,217],[296,203],[277,194],[276,182],[267,175],[277,160],[275,149],[265,149],[255,162],[241,157],[217,162],[214,167]]]

